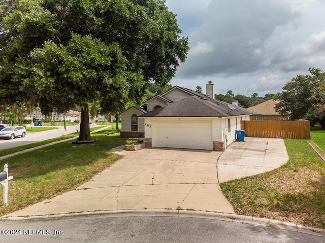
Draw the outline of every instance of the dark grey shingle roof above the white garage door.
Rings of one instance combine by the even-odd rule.
[[[190,96],[180,101],[147,112],[140,117],[211,117],[257,114],[247,109],[236,107],[231,110],[228,103],[209,97]]]

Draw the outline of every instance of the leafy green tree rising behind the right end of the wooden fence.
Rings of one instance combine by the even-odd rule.
[[[276,110],[291,119],[309,119],[325,129],[325,72],[309,68],[310,74],[297,75],[276,98]]]

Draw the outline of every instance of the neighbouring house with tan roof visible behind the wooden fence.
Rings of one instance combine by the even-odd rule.
[[[250,117],[251,120],[288,120],[290,118],[289,115],[281,115],[279,112],[275,110],[275,105],[278,101],[271,99],[267,100],[261,104],[248,107],[248,110],[257,112],[259,114],[252,115]]]

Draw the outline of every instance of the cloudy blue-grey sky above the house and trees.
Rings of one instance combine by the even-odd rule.
[[[325,70],[325,0],[167,0],[190,51],[171,84],[216,94],[278,93]]]

